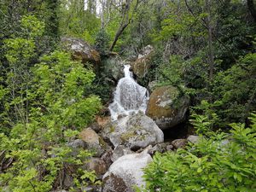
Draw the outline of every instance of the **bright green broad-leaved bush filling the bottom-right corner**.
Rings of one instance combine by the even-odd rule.
[[[145,169],[142,191],[254,191],[255,120],[254,114],[250,128],[231,125],[231,135],[212,132],[212,137],[201,137],[187,149],[155,154]]]

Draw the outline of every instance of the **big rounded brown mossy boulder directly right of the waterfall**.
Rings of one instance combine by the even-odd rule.
[[[177,106],[174,106],[176,99]],[[146,114],[154,119],[160,129],[165,130],[183,122],[188,108],[188,96],[179,96],[179,91],[173,86],[162,86],[150,95]]]

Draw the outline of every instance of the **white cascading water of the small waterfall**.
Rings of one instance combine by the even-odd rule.
[[[119,79],[113,97],[113,103],[109,105],[112,120],[118,119],[119,115],[129,115],[142,111],[145,113],[148,102],[148,90],[137,84],[132,78],[130,65],[125,65],[125,77]]]

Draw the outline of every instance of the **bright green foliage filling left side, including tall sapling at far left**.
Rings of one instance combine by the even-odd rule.
[[[101,108],[100,99],[89,94],[95,74],[61,51],[32,65],[44,23],[29,15],[21,26],[21,37],[4,41],[0,190],[49,191],[61,187],[66,175],[73,177],[73,191],[97,183],[94,172],[79,169],[91,153],[67,145]]]

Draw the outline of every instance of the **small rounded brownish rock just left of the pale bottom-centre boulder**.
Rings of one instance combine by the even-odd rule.
[[[107,172],[107,166],[104,160],[100,158],[91,158],[85,165],[86,170],[95,171],[97,176],[103,175]]]

